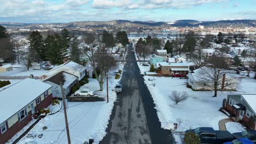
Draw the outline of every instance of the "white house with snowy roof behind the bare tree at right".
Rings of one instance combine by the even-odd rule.
[[[211,87],[211,79],[209,76],[205,73],[205,71],[211,70],[210,67],[202,67],[196,70],[193,70],[193,72],[189,73],[187,75],[188,77],[188,85],[194,90],[194,91],[211,91],[213,90]],[[218,86],[219,90],[226,90],[226,91],[236,91],[236,83],[237,79],[236,77],[232,76],[231,74],[226,74],[224,78],[220,78]],[[224,84],[224,85],[222,85]],[[222,87],[223,86],[223,87]]]

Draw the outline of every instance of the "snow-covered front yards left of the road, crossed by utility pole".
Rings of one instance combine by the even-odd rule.
[[[123,69],[123,66],[124,64],[120,64],[115,71]],[[114,101],[117,98],[117,94],[112,91],[112,89],[114,89],[115,84],[118,83],[120,79],[115,80],[114,76],[109,75],[109,103],[106,103],[106,101],[67,103],[67,117],[71,143],[83,144],[89,139],[94,139],[95,143],[98,143],[103,139],[106,135],[106,128],[112,113]],[[81,89],[83,88],[89,88],[93,91],[97,91],[99,89],[98,82],[96,79],[89,79],[89,83],[81,87]],[[102,92],[96,92],[100,97],[106,97],[106,83],[104,83],[103,89],[104,90]],[[43,130],[43,127],[47,127],[47,129]],[[44,119],[39,121],[39,123],[36,124],[35,127],[18,143],[65,144],[67,143],[65,128],[64,113],[62,109],[54,115],[47,115]],[[43,134],[42,138],[38,137],[40,134]],[[37,136],[27,137],[30,135]]]

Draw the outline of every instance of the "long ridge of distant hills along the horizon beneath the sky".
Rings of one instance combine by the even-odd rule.
[[[199,25],[209,27],[256,27],[256,20],[223,20],[223,21],[197,21],[197,20],[177,20],[174,22],[155,22],[155,21],[128,21],[128,20],[112,20],[112,21],[80,21],[69,23],[16,23],[16,22],[0,22],[0,25],[7,27],[47,27],[61,26],[62,28],[86,27],[86,26],[174,26],[174,27],[197,27]]]

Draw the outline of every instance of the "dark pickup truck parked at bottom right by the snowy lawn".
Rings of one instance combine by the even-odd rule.
[[[185,131],[188,133],[190,130]],[[200,137],[201,143],[223,143],[234,140],[234,136],[229,131],[214,130],[211,127],[200,127],[191,129],[196,135]]]

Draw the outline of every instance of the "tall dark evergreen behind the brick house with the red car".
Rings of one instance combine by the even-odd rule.
[[[185,37],[185,43],[184,43],[183,49],[185,52],[190,53],[190,58],[192,57],[192,54],[195,51],[195,46],[196,46],[195,33],[192,31],[189,31]]]

